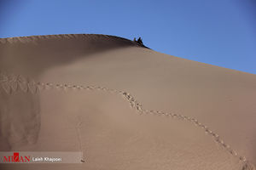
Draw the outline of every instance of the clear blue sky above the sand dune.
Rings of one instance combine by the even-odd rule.
[[[256,74],[256,0],[0,0],[0,37],[143,37],[165,54]]]

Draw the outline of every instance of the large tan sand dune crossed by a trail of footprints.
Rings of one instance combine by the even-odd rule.
[[[0,149],[84,153],[81,164],[1,169],[241,170],[256,163],[253,74],[105,35],[2,38],[0,68]]]

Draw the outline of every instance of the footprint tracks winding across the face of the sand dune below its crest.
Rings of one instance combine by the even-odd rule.
[[[236,150],[233,150],[229,144],[226,144],[224,140],[221,139],[217,133],[213,133],[209,127],[202,124],[197,119],[189,116],[183,116],[180,114],[168,113],[165,111],[154,111],[154,110],[144,109],[143,105],[140,102],[138,102],[137,99],[133,97],[133,95],[123,90],[117,90],[117,89],[106,88],[101,86],[84,86],[84,85],[74,85],[74,84],[68,84],[68,83],[60,84],[60,83],[53,83],[53,82],[35,82],[29,77],[25,78],[21,75],[7,74],[1,71],[0,71],[0,85],[6,94],[15,93],[18,90],[21,90],[25,93],[37,94],[39,92],[44,92],[44,90],[58,89],[58,90],[65,90],[65,91],[67,90],[92,90],[92,91],[100,90],[100,91],[105,91],[105,92],[116,94],[116,95],[121,95],[123,99],[125,99],[130,104],[131,108],[135,109],[139,114],[166,116],[166,117],[178,118],[179,120],[194,123],[195,126],[201,127],[205,131],[205,133],[211,136],[215,142],[217,142],[219,145],[221,145],[224,148],[224,150],[229,152],[232,156],[236,156],[239,159],[239,161],[241,161],[244,164],[242,167],[242,170],[255,169],[254,165],[249,161],[247,161],[247,158],[245,156],[240,156],[239,154],[237,154]],[[79,126],[80,125],[78,124],[77,125],[78,132],[79,132]],[[81,147],[81,144],[79,147]],[[84,162],[83,159],[81,161]]]

